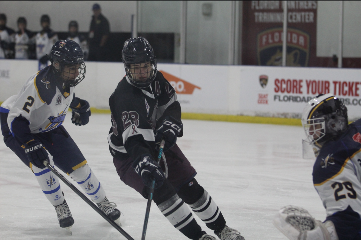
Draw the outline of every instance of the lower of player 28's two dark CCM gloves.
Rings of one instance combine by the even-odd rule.
[[[152,186],[152,180],[156,180],[155,189],[162,186],[165,175],[159,164],[153,160],[151,154],[139,156],[133,163],[135,172],[142,178],[143,183],[149,188]]]

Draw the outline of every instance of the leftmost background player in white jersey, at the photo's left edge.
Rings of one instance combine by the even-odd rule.
[[[0,14],[0,58],[14,58],[15,31],[6,27],[6,15]]]

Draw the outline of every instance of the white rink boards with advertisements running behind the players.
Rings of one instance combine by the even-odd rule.
[[[123,64],[86,66],[76,95],[93,108],[109,109],[109,96],[125,75]],[[0,60],[0,102],[17,94],[37,67],[36,60]],[[177,91],[184,114],[223,121],[239,115],[299,119],[308,100],[332,93],[344,101],[350,120],[361,117],[361,69],[158,64],[158,70]]]

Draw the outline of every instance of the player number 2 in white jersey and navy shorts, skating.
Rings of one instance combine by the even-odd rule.
[[[83,154],[62,126],[69,107],[75,125],[86,125],[91,115],[89,103],[74,94],[74,87],[85,77],[83,52],[74,41],[64,40],[54,44],[50,57],[50,66],[32,75],[18,95],[1,105],[5,144],[35,174],[43,193],[55,206],[60,227],[69,230],[74,219],[59,179],[44,166],[44,160],[68,174],[106,215],[120,224],[120,211],[106,198]]]

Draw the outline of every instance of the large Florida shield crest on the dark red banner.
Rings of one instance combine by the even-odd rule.
[[[282,27],[272,28],[257,35],[257,61],[261,66],[282,66]],[[287,28],[286,66],[308,66],[310,36],[292,27]]]

